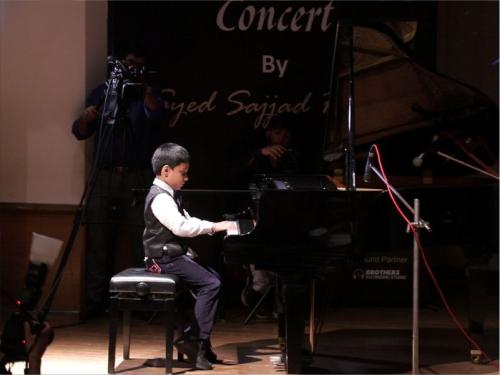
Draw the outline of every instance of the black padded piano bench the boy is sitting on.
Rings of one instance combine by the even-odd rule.
[[[108,373],[115,372],[118,313],[123,312],[123,359],[130,359],[130,317],[132,311],[166,313],[165,374],[172,374],[175,297],[179,293],[175,275],[159,274],[144,268],[128,268],[109,283]]]

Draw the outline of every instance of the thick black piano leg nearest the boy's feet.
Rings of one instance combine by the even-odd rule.
[[[306,284],[284,283],[285,363],[289,374],[302,372],[306,317]]]

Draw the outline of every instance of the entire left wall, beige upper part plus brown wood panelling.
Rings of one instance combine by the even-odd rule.
[[[86,149],[71,123],[105,78],[106,52],[107,2],[0,1],[2,313],[24,285],[31,233],[69,238]],[[82,228],[71,251],[55,310],[80,310]]]

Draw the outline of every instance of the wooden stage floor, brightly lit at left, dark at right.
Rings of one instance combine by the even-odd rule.
[[[462,309],[463,310],[463,309]],[[213,333],[213,345],[223,364],[214,371],[197,374],[283,374],[272,358],[278,355],[276,324],[252,320],[243,325],[247,311],[226,311]],[[455,328],[444,309],[422,308],[419,313],[419,364],[422,374],[498,374],[498,303],[489,309],[486,333],[480,344],[493,363],[473,364],[469,345]],[[458,312],[466,322],[463,311]],[[135,316],[132,326],[131,360],[123,361],[121,336],[118,340],[117,372],[163,374],[164,369],[147,367],[147,359],[163,355],[162,317],[148,322]],[[330,308],[322,317],[322,329],[312,362],[306,373],[401,374],[412,373],[411,307],[339,307]],[[77,322],[68,315],[52,314],[55,341],[43,357],[44,374],[104,374],[107,372],[108,320]],[[175,355],[174,355],[175,358]],[[191,371],[186,363],[174,362],[174,373]],[[14,373],[23,373],[16,363]]]

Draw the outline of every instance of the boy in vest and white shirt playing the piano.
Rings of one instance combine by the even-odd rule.
[[[194,316],[199,335],[181,337],[175,345],[197,369],[210,370],[212,363],[217,361],[211,349],[210,334],[221,278],[213,269],[192,259],[183,237],[236,230],[236,223],[201,220],[182,209],[174,195],[188,180],[189,159],[188,151],[175,143],[164,143],[154,152],[151,164],[156,178],[146,197],[143,243],[149,271],[176,275],[196,294]]]

